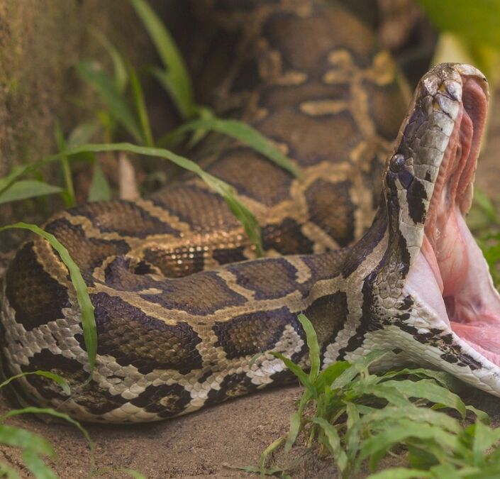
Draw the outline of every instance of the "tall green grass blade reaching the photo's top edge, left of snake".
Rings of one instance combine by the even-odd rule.
[[[196,113],[193,87],[182,55],[165,25],[145,0],[129,0],[148,31],[165,70],[152,70],[184,119]]]

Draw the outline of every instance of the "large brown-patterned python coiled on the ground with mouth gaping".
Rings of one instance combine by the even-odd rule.
[[[44,229],[87,285],[95,368],[67,267],[37,237],[2,283],[4,368],[57,373],[71,392],[36,374],[16,389],[84,421],[187,414],[293,381],[273,353],[309,367],[304,313],[322,368],[388,350],[381,368],[428,365],[500,395],[500,297],[465,224],[484,75],[437,65],[409,101],[391,56],[334,2],[206,5],[234,53],[214,108],[256,128],[301,172],[216,133],[196,151],[255,214],[265,256],[189,175],[135,202],[55,214]]]

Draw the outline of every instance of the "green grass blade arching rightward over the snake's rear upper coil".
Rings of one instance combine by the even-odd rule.
[[[218,133],[223,133],[232,138],[235,138],[245,145],[250,146],[255,151],[258,151],[266,158],[274,161],[277,165],[284,170],[291,172],[295,177],[300,176],[299,170],[291,163],[291,160],[281,153],[272,143],[270,143],[265,136],[262,136],[259,131],[252,128],[252,126],[238,120],[223,120],[218,118],[205,118],[190,121],[177,128],[178,133],[184,131],[196,130],[211,130]]]

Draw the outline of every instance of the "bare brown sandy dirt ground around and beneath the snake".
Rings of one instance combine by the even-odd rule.
[[[491,119],[487,148],[479,160],[477,185],[494,199],[500,198],[500,117]],[[498,204],[498,203],[497,203]],[[120,468],[133,468],[148,479],[157,478],[246,478],[234,467],[257,465],[260,453],[288,429],[289,415],[299,397],[299,387],[261,392],[221,404],[187,417],[138,426],[89,425],[96,443],[95,466],[83,436],[66,424],[44,424],[24,417],[9,421],[26,426],[48,438],[57,452],[53,468],[62,479],[96,477],[126,478]],[[486,410],[500,424],[500,400],[477,390],[467,390],[464,399]],[[7,409],[4,402],[0,412]],[[290,456],[277,455],[274,462],[287,466],[306,451],[294,448]],[[23,478],[18,451],[0,448],[0,462],[15,466]],[[391,458],[385,467],[401,463]],[[289,469],[292,477],[335,478],[335,466],[309,453]],[[366,471],[360,475],[365,477]]]

